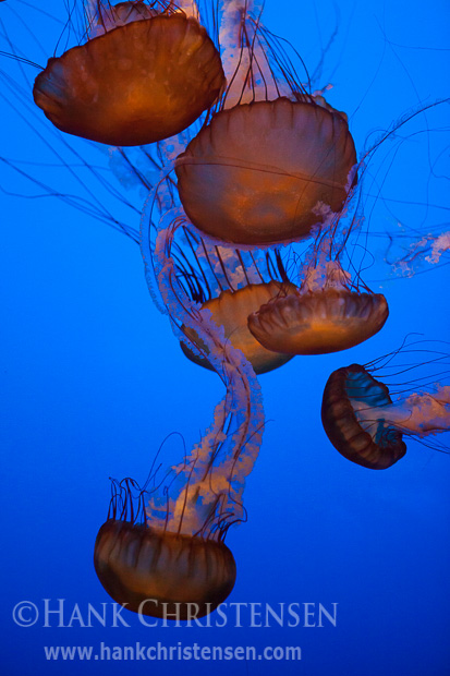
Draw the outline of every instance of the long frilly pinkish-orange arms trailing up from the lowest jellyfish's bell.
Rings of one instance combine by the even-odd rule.
[[[226,339],[223,328],[212,322],[209,312],[190,300],[177,278],[170,251],[179,227],[175,220],[172,227],[159,232],[154,252],[155,267],[149,270],[146,263],[147,275],[150,283],[155,274],[158,278],[172,326],[178,327],[179,333],[181,327],[195,331],[197,347],[208,351],[208,359],[227,387],[226,397],[216,407],[214,422],[202,442],[193,448],[183,468],[174,468],[185,472],[184,468],[194,463],[195,470],[175,500],[168,528],[171,529],[182,514],[182,532],[192,534],[202,529],[211,505],[216,509],[216,527],[218,523],[221,528],[224,526],[223,515],[227,515],[226,522],[242,515],[242,492],[259,451],[264,412],[260,387],[250,363]]]

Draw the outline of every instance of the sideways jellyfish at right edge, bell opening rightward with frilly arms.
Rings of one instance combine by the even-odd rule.
[[[450,430],[450,387],[392,401],[388,387],[360,364],[335,371],[325,386],[321,421],[331,444],[356,464],[392,467],[406,452],[403,435],[423,439]]]

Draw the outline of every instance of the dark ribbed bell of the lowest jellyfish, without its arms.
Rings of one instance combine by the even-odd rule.
[[[114,519],[98,532],[94,566],[117,603],[170,619],[208,615],[229,596],[236,577],[223,542]]]

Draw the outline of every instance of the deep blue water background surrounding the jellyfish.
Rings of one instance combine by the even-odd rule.
[[[35,2],[32,2],[35,4]],[[301,5],[301,7],[299,7]],[[291,40],[311,70],[335,25],[323,84],[329,101],[348,111],[361,150],[369,134],[446,95],[447,3],[431,0],[314,4],[267,1],[265,24]],[[29,59],[45,62],[61,33],[63,2],[45,3],[48,15],[24,2],[0,4],[3,28]],[[14,12],[16,14],[14,14]],[[447,24],[447,25],[446,25]],[[42,45],[42,51],[32,36]],[[1,49],[9,50],[2,43]],[[1,60],[16,80],[14,63]],[[35,71],[26,70],[33,79]],[[51,154],[37,141],[31,113],[20,117],[3,88],[0,155],[34,165],[22,169],[50,185],[74,179],[47,166]],[[398,220],[428,231],[442,222],[447,183],[448,106],[402,128],[374,165],[381,198],[367,216],[374,231],[397,231]],[[36,120],[44,120],[38,116]],[[447,118],[448,120],[448,118]],[[44,131],[42,133],[47,133]],[[107,157],[69,140],[88,162]],[[386,145],[388,150],[388,146]],[[447,165],[448,167],[448,165]],[[111,177],[111,182],[114,179]],[[39,192],[8,166],[0,184],[21,195]],[[119,183],[115,183],[121,189]],[[376,194],[374,186],[370,193]],[[107,203],[108,196],[99,195]],[[138,197],[133,200],[138,204]],[[390,202],[390,201],[398,202]],[[111,212],[120,207],[111,204]],[[115,215],[117,212],[114,212]],[[123,212],[123,217],[129,214]],[[333,628],[234,626],[145,628],[124,613],[130,627],[14,625],[15,604],[65,599],[109,603],[92,563],[98,528],[107,515],[108,476],[143,481],[153,456],[173,431],[186,445],[198,439],[222,396],[214,374],[181,353],[169,323],[153,306],[136,244],[56,197],[1,196],[2,305],[2,673],[31,674],[342,674],[345,676],[443,676],[449,645],[450,458],[408,442],[405,458],[385,472],[345,461],[320,424],[328,375],[399,347],[412,331],[448,336],[448,267],[413,278],[393,278],[382,264],[386,240],[373,251],[366,273],[382,288],[390,318],[382,331],[348,352],[296,358],[262,376],[268,420],[260,457],[244,494],[248,522],[230,532],[239,574],[230,603],[339,603]],[[138,227],[138,214],[131,225]],[[428,268],[421,268],[426,270]],[[375,280],[375,281],[374,281]],[[417,361],[424,355],[417,355]],[[173,442],[168,461],[181,456]],[[212,624],[216,621],[212,616]],[[218,618],[219,621],[220,618]],[[52,621],[52,625],[56,625]],[[302,662],[46,662],[44,645],[300,645]]]

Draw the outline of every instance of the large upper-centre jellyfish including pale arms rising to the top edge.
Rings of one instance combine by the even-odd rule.
[[[202,232],[268,245],[307,238],[342,209],[356,152],[345,116],[292,73],[278,73],[281,58],[271,65],[275,48],[248,4],[224,10],[220,41],[230,84],[175,172],[182,205]]]

